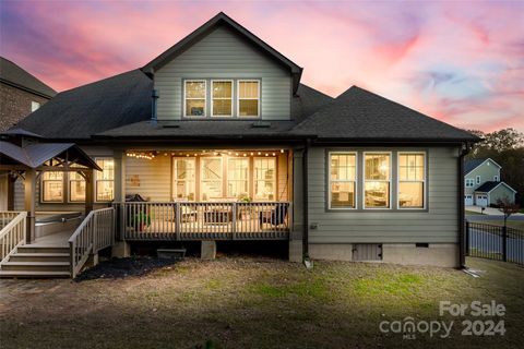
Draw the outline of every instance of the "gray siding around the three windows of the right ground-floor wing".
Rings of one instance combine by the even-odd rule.
[[[326,210],[325,148],[313,147],[309,153],[309,222],[318,224],[310,229],[311,243],[416,243],[456,242],[458,236],[457,205],[457,155],[454,148],[429,149],[362,149],[392,151],[393,164],[396,151],[427,151],[429,195],[426,210]],[[361,166],[361,165],[360,165]],[[359,171],[360,172],[360,171]],[[361,177],[361,176],[360,176]],[[396,181],[393,169],[392,190]],[[361,185],[358,184],[357,201],[361,202]],[[461,195],[462,196],[462,195]],[[392,195],[392,206],[395,207]]]

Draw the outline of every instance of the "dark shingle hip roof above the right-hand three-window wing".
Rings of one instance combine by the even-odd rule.
[[[477,141],[468,132],[353,86],[298,124],[294,134],[350,141]]]

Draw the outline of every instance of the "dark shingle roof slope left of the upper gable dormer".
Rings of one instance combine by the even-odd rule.
[[[79,140],[151,119],[153,82],[140,70],[59,93],[16,128],[48,139]]]

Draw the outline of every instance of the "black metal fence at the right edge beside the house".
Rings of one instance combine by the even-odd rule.
[[[524,265],[524,231],[466,221],[466,255]]]

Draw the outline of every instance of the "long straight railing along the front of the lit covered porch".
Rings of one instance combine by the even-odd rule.
[[[286,239],[287,202],[126,202],[115,207],[126,240]]]

